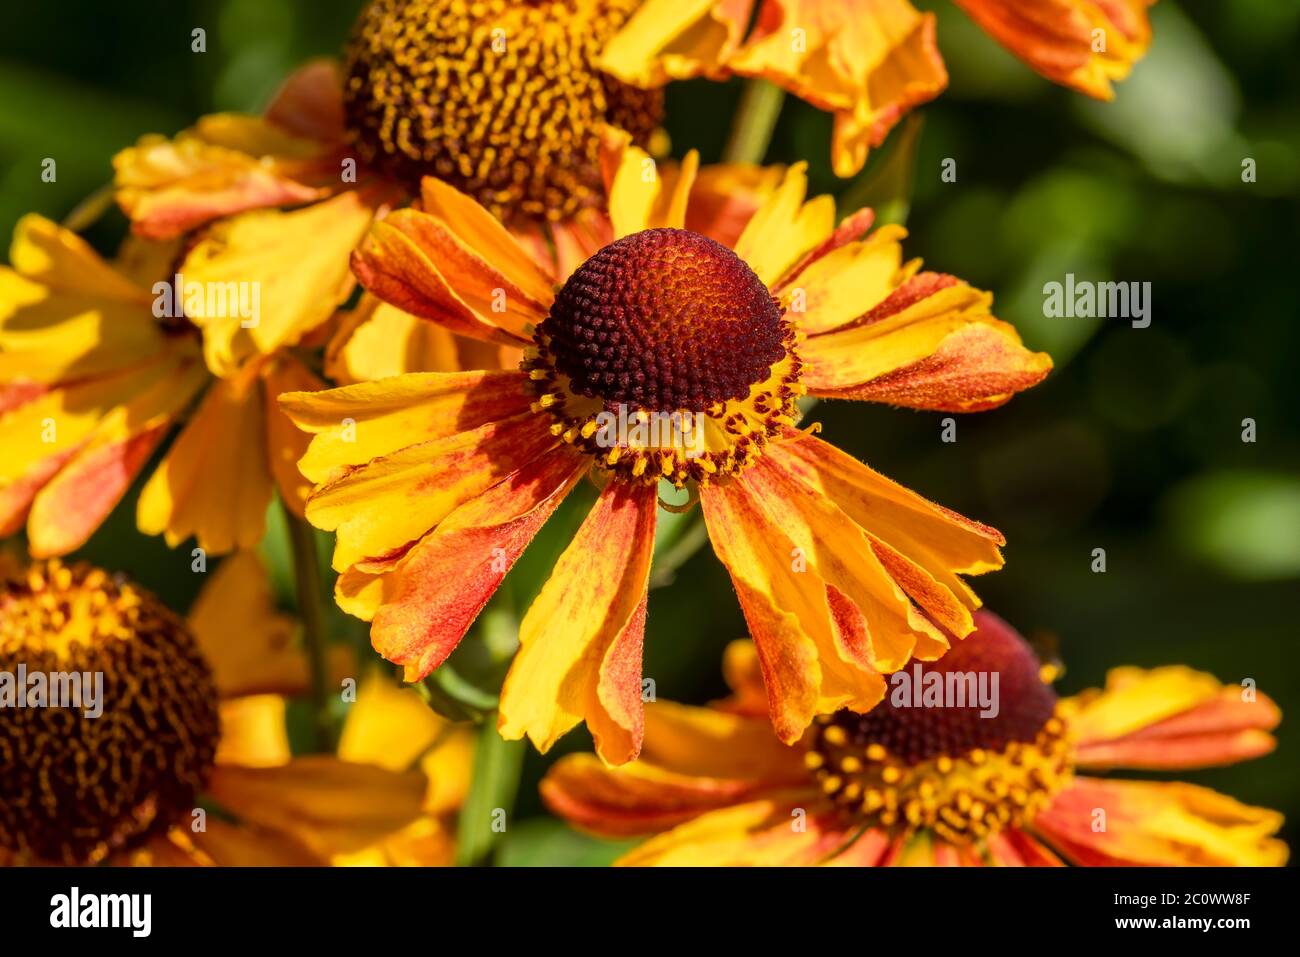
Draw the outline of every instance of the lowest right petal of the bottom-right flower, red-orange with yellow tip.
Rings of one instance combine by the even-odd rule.
[[[1034,819],[1039,836],[1092,866],[1275,867],[1287,859],[1279,827],[1277,811],[1209,788],[1095,778],[1076,778]]]

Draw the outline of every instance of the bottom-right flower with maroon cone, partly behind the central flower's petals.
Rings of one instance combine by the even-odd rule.
[[[542,797],[593,833],[656,835],[623,865],[1286,862],[1273,836],[1280,814],[1192,784],[1084,774],[1266,754],[1279,720],[1266,696],[1171,666],[1117,668],[1104,689],[1058,700],[1050,668],[1019,635],[988,612],[976,619],[942,661],[907,670],[953,694],[940,700],[946,707],[918,706],[919,689],[896,684],[870,714],[826,715],[785,746],[762,715],[754,648],[734,642],[734,697],[651,705],[641,761],[562,758]],[[1000,679],[996,714],[974,703],[980,674],[988,687]]]

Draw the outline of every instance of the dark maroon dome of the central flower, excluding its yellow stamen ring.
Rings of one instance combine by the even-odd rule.
[[[693,412],[749,395],[786,339],[754,270],[684,229],[606,246],[564,283],[538,332],[576,394]]]

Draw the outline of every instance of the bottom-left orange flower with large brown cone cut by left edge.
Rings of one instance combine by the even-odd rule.
[[[0,670],[104,679],[99,715],[6,711],[0,863],[450,862],[441,815],[463,793],[464,736],[430,729],[441,719],[413,694],[372,681],[338,757],[291,757],[283,696],[303,692],[308,674],[291,638],[251,553],[214,572],[188,627],[84,564],[5,571]],[[411,701],[395,706],[394,694]],[[443,772],[437,787],[412,770],[421,758]]]

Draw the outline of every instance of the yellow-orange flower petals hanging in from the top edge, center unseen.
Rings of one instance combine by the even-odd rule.
[[[957,0],[1035,70],[1098,99],[1145,52],[1153,1]],[[948,86],[935,14],[909,0],[646,0],[601,66],[647,88],[699,75],[770,79],[835,114],[841,177]]]

